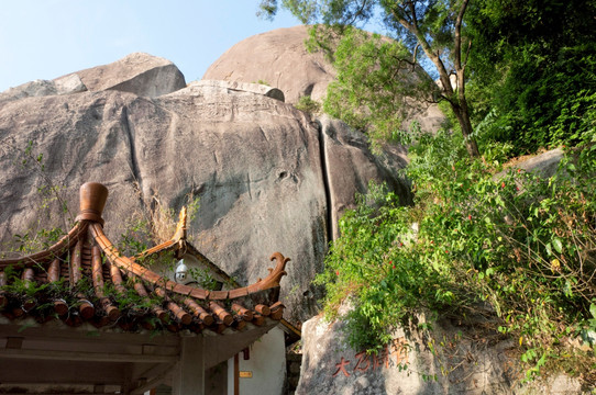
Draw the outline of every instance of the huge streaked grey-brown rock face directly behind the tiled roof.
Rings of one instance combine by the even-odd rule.
[[[352,205],[369,178],[400,183],[399,155],[377,160],[362,135],[331,121],[321,128],[264,94],[198,83],[152,99],[76,75],[88,88],[108,90],[0,103],[2,241],[42,226],[69,228],[62,206],[74,218],[87,181],[110,190],[104,219],[114,239],[155,195],[179,210],[192,193],[200,198],[189,224],[195,245],[239,282],[265,276],[274,251],[293,259],[282,298],[286,318],[297,321],[314,313],[319,295],[310,283],[322,268],[335,210]],[[43,206],[51,218],[41,217]]]

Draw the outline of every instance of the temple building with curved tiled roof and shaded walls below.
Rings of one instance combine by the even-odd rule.
[[[240,286],[187,241],[184,208],[168,241],[126,257],[107,199],[84,184],[66,236],[0,260],[0,394],[280,394],[289,259]]]

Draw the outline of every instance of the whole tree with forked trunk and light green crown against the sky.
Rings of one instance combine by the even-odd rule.
[[[323,23],[323,34],[311,34],[308,45],[320,45],[334,59],[338,81],[331,83],[324,111],[371,134],[373,148],[400,134],[408,105],[446,101],[456,114],[471,156],[479,156],[465,95],[470,44],[463,15],[467,1],[282,0],[302,23]],[[263,0],[262,11],[277,12],[276,0]],[[382,24],[391,42],[355,29],[358,23]],[[318,29],[318,27],[316,27]],[[319,29],[318,29],[319,30]],[[426,69],[439,77],[439,88]],[[408,70],[408,72],[406,72]],[[453,89],[450,76],[457,76]],[[418,102],[418,103],[416,103]]]

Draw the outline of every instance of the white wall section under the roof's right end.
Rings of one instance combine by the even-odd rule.
[[[240,371],[253,373],[251,379],[239,377],[240,395],[282,395],[286,379],[286,347],[284,331],[269,330],[251,347],[247,361],[240,352]],[[234,395],[234,359],[228,360],[228,395]]]

